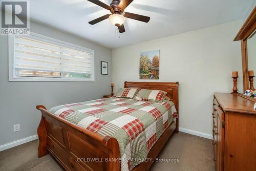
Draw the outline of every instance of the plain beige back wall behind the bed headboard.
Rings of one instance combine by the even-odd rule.
[[[212,95],[231,92],[231,71],[240,74],[240,42],[232,41],[241,21],[212,26],[179,35],[112,50],[115,92],[124,81],[139,80],[139,53],[160,49],[160,79],[179,81],[180,127],[211,135]]]

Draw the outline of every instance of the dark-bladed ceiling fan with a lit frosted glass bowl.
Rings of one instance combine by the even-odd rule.
[[[125,32],[123,23],[125,22],[125,17],[126,18],[131,18],[131,19],[136,19],[139,20],[140,22],[145,22],[148,23],[150,21],[150,17],[148,16],[144,16],[144,15],[139,15],[139,14],[134,14],[134,13],[130,13],[130,12],[124,12],[124,9],[129,6],[133,0],[113,0],[112,3],[109,5],[106,5],[104,3],[102,3],[99,0],[87,0],[90,1],[102,8],[105,8],[107,10],[110,10],[111,14],[106,14],[103,15],[99,18],[96,18],[94,20],[92,20],[91,22],[89,22],[89,24],[91,25],[95,25],[107,18],[110,19],[110,22],[115,25],[116,27],[118,27],[118,30],[120,33]]]

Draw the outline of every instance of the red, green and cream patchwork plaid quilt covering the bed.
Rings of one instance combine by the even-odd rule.
[[[178,117],[172,101],[158,103],[116,97],[60,105],[49,112],[103,137],[116,138],[121,170],[131,170],[143,162],[168,125]]]

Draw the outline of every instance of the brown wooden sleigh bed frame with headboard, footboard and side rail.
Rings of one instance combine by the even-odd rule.
[[[167,92],[167,96],[175,103],[179,115],[178,85],[179,82],[124,82],[124,88],[143,88]],[[120,170],[119,144],[115,138],[101,137],[83,129],[50,113],[43,105],[37,105],[36,108],[42,114],[37,129],[39,158],[50,152],[65,170]],[[147,157],[153,160],[140,163],[133,170],[150,169],[155,158],[174,132],[179,132],[179,119],[167,127],[151,148]],[[95,158],[95,161],[79,162],[80,158]]]

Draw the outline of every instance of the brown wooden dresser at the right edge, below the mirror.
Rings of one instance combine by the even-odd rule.
[[[253,105],[237,94],[214,93],[212,144],[216,170],[256,170]]]

